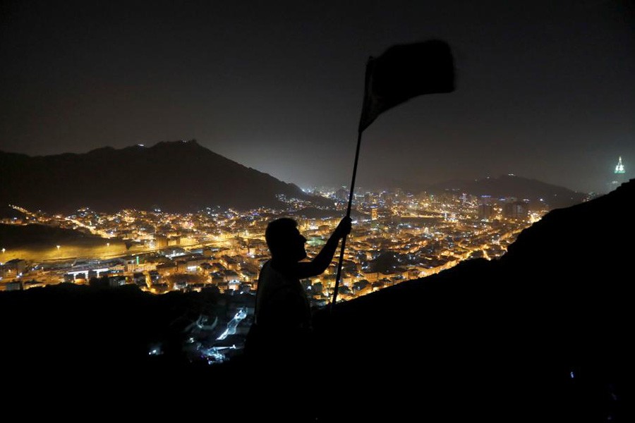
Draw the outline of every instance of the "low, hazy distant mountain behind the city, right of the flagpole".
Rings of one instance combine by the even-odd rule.
[[[536,179],[521,176],[503,175],[497,178],[476,180],[449,180],[430,185],[428,192],[465,192],[471,195],[490,195],[492,197],[516,197],[531,203],[548,204],[550,209],[560,209],[583,202],[586,194],[575,192]]]

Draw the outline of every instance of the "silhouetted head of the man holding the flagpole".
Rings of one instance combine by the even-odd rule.
[[[306,257],[306,238],[298,231],[298,223],[294,219],[282,217],[270,221],[265,231],[265,240],[274,259],[299,262]]]

